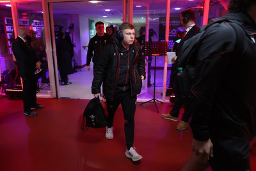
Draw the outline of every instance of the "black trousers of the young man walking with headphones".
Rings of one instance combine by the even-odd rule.
[[[134,142],[134,114],[136,111],[136,101],[137,96],[131,97],[131,92],[127,91],[125,93],[115,93],[114,100],[111,101],[106,98],[107,108],[108,108],[108,128],[113,126],[113,121],[115,117],[115,112],[118,106],[122,105],[122,110],[124,112],[124,131],[126,146],[129,150],[133,147]]]

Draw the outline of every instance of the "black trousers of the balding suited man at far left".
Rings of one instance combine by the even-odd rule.
[[[22,78],[23,91],[22,100],[24,112],[31,112],[31,107],[36,104],[37,78],[35,75]]]

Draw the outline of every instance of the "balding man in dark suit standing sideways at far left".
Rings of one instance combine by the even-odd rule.
[[[27,43],[28,33],[28,28],[20,27],[19,35],[12,43],[12,52],[16,57],[18,72],[22,78],[24,115],[35,116],[36,112],[32,109],[44,108],[36,103],[36,71],[41,70],[41,63],[36,59],[31,44]]]

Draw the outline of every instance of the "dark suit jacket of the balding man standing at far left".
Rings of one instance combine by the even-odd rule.
[[[19,37],[12,43],[12,52],[17,60],[19,75],[22,78],[31,78],[35,75],[36,63],[39,61],[36,58],[33,48]]]

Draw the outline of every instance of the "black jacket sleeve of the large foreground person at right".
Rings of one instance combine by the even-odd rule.
[[[214,24],[202,36],[195,82],[191,87],[191,128],[196,140],[209,139],[209,119],[216,91],[221,85],[236,45],[236,32],[227,23]],[[218,123],[216,123],[218,124]]]

